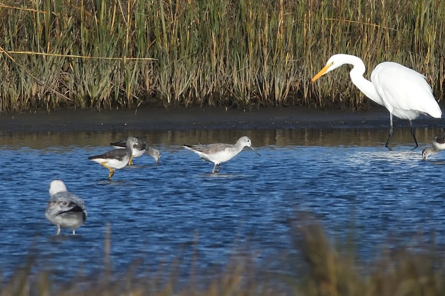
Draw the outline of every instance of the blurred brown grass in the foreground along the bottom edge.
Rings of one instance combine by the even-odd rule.
[[[435,243],[382,250],[371,262],[354,255],[354,243],[334,247],[319,223],[310,217],[292,222],[294,256],[271,262],[290,266],[291,272],[258,269],[249,258],[227,263],[215,274],[192,273],[178,280],[175,264],[167,273],[140,277],[127,274],[95,279],[52,282],[45,271],[32,271],[33,263],[17,270],[0,285],[1,296],[443,296],[445,295],[445,253]],[[349,248],[350,247],[350,248]],[[292,259],[291,259],[292,258]],[[105,263],[107,265],[108,263]],[[105,267],[108,269],[108,267]],[[113,280],[111,280],[113,279]]]

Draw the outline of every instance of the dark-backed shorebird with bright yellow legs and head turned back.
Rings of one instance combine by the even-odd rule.
[[[100,163],[107,168],[110,171],[108,179],[111,179],[115,170],[122,169],[129,163],[135,149],[134,147],[138,145],[137,139],[132,136],[128,137],[126,143],[126,148],[114,149],[104,154],[90,156],[88,159]]]

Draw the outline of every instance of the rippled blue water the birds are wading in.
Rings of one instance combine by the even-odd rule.
[[[36,270],[68,280],[98,276],[106,263],[126,273],[156,272],[180,259],[223,268],[234,254],[270,264],[294,251],[292,221],[308,212],[330,237],[352,230],[358,256],[372,259],[387,244],[410,246],[434,235],[445,244],[445,152],[422,161],[435,130],[399,129],[392,150],[386,130],[184,130],[48,132],[0,137],[0,271],[3,277],[33,259]],[[88,156],[111,149],[128,134],[145,137],[161,151],[161,163],[142,156],[115,172]],[[234,143],[252,139],[211,174],[213,164],[182,144]],[[221,139],[221,141],[217,141]],[[405,142],[404,142],[405,141]],[[45,220],[48,185],[61,179],[82,197],[87,222],[76,235]],[[107,258],[107,229],[110,254]],[[278,264],[278,263],[276,263]]]

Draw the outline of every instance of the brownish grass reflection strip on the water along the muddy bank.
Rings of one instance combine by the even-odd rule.
[[[439,128],[417,128],[419,145],[430,145],[440,134]],[[294,129],[200,129],[200,130],[106,130],[106,131],[44,131],[9,132],[0,136],[0,145],[14,148],[46,149],[70,146],[108,146],[110,142],[127,138],[128,135],[143,137],[149,145],[182,146],[183,144],[234,144],[242,135],[251,138],[253,145],[262,146],[365,146],[384,145],[388,137],[387,128],[294,128]],[[412,145],[411,145],[412,142]],[[396,127],[392,146],[397,143],[414,147],[409,127]]]

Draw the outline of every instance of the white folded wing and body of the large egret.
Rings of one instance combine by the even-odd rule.
[[[381,63],[372,71],[371,81],[385,107],[394,109],[396,116],[397,110],[416,110],[436,118],[442,116],[425,76],[414,70],[393,62]]]

